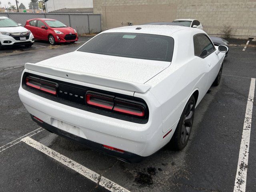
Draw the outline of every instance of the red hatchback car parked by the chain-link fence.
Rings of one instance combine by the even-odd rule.
[[[32,32],[35,39],[48,40],[51,45],[78,41],[75,29],[54,19],[30,19],[27,20],[25,28]]]

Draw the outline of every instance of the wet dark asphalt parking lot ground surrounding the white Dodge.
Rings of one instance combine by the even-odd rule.
[[[246,46],[247,40],[232,40],[220,86],[211,87],[196,108],[184,150],[165,147],[140,163],[127,164],[40,128],[18,97],[26,62],[71,52],[86,40],[55,47],[36,42],[29,49],[0,52],[0,191],[232,192],[246,183],[246,192],[255,192],[256,104],[249,95],[255,95],[253,42]],[[248,100],[253,106],[247,117],[250,150],[248,165],[243,165],[238,158]],[[237,180],[238,169],[247,170],[245,180]]]

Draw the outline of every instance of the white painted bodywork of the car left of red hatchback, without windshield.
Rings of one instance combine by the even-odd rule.
[[[0,19],[9,18],[0,16]],[[1,32],[9,33],[10,35],[3,35]],[[26,39],[20,40],[20,38]],[[0,43],[2,46],[33,44],[34,36],[29,30],[19,25],[14,27],[0,27]]]

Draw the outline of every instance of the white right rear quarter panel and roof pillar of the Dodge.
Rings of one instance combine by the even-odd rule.
[[[194,91],[199,96],[196,105],[206,94],[207,67],[194,56],[193,35],[202,30],[191,28],[176,32],[171,65],[146,82],[150,92],[159,101],[162,109],[162,131],[168,131],[179,120],[186,102]]]

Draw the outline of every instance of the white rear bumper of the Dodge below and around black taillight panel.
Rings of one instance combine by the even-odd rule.
[[[25,69],[24,72],[28,72],[28,70]],[[57,76],[33,73],[51,79],[64,80]],[[72,80],[72,83],[83,85],[75,80]],[[86,84],[86,86],[97,88],[94,84]],[[85,140],[124,150],[129,154],[142,157],[150,156],[166,145],[174,132],[172,131],[164,137],[168,130],[162,132],[161,106],[150,91],[139,96],[148,105],[149,118],[146,124],[129,122],[114,118],[114,116],[104,116],[65,103],[55,102],[25,90],[22,85],[18,93],[28,112],[46,124]],[[175,130],[176,125],[173,124],[169,130]],[[130,160],[130,162],[132,161]]]

